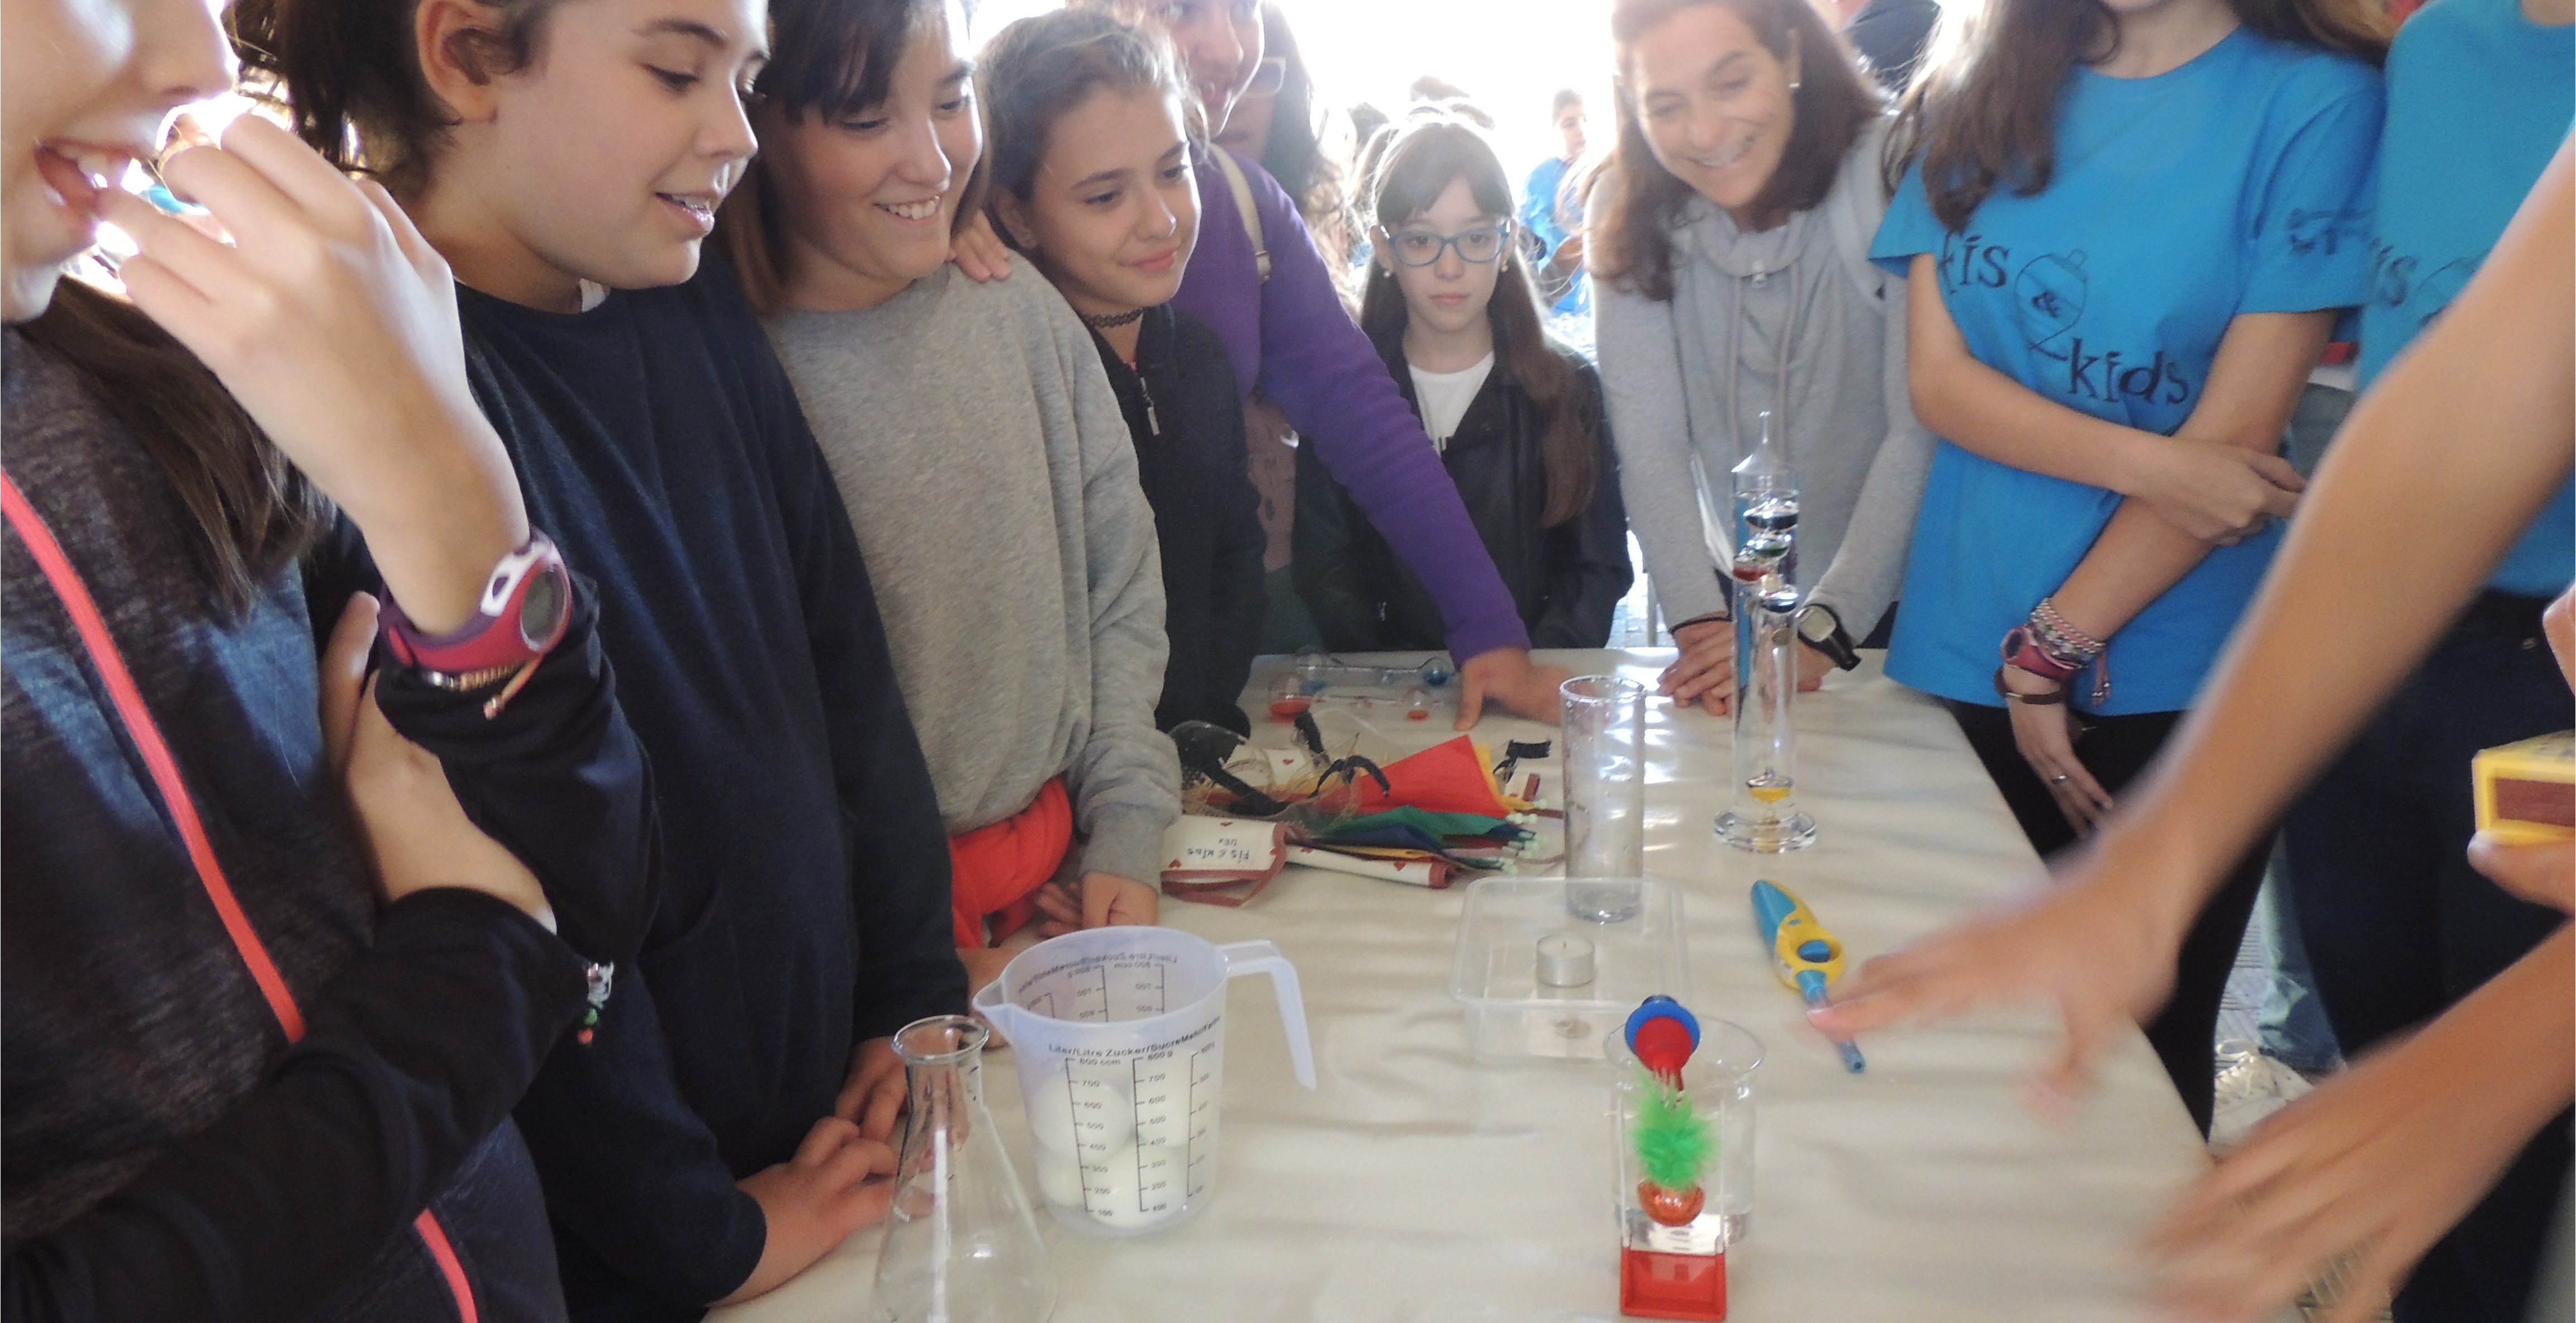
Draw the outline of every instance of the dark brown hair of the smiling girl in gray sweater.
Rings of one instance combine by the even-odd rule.
[[[943,0],[773,0],[770,62],[752,82],[762,113],[788,124],[806,116],[848,118],[884,106],[894,93],[894,67],[904,46],[930,23],[945,23]],[[958,190],[951,232],[963,229],[984,206],[984,178],[992,152],[984,152]],[[716,242],[734,260],[742,293],[760,311],[786,304],[786,219],[778,185],[760,157],[716,211]]]

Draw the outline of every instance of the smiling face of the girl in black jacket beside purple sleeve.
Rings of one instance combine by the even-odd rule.
[[[1002,198],[1012,239],[1074,311],[1170,304],[1198,242],[1198,180],[1180,100],[1097,90],[1056,118],[1028,203]]]

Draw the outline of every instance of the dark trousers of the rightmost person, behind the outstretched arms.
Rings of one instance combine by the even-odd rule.
[[[2360,1055],[2566,919],[2468,867],[2468,759],[2576,723],[2537,597],[2483,595],[2285,821],[2290,896],[2336,1042]],[[2499,1071],[2517,1063],[2496,1063]],[[2519,1323],[2568,1171],[2561,1115],[2398,1292],[2398,1323]]]

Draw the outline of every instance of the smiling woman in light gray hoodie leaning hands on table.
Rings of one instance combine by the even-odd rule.
[[[1618,149],[1589,216],[1595,345],[1628,528],[1682,646],[1662,690],[1723,713],[1726,471],[1798,468],[1798,682],[1855,667],[1896,600],[1932,466],[1906,288],[1870,265],[1886,103],[1803,0],[1618,0]]]

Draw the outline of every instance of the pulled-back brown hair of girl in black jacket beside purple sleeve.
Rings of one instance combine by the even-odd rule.
[[[1198,139],[1198,103],[1180,77],[1162,33],[1121,23],[1103,10],[1048,10],[994,33],[976,64],[976,100],[984,111],[984,167],[992,198],[1028,198],[1054,142],[1056,121],[1092,93],[1151,93],[1182,106],[1188,134]],[[992,216],[992,232],[1010,242],[1010,227]]]

